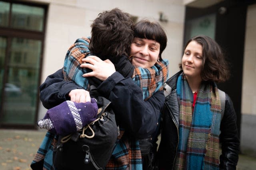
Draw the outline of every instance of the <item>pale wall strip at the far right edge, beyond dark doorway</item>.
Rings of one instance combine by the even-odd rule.
[[[243,154],[256,157],[256,4],[248,6],[244,45],[241,144]]]

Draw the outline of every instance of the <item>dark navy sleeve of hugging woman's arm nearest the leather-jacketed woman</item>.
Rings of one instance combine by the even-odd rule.
[[[164,93],[154,93],[144,101],[142,90],[131,78],[115,72],[98,86],[100,94],[112,102],[118,124],[138,138],[152,135],[158,125]]]

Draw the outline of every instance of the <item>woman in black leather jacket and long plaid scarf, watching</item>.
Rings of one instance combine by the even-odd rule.
[[[210,37],[193,37],[180,69],[165,86],[160,169],[236,169],[236,113],[228,94],[216,86],[230,76],[220,46]]]

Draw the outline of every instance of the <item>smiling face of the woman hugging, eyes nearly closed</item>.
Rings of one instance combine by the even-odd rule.
[[[152,67],[159,56],[160,43],[151,39],[144,39],[135,37],[131,44],[130,55],[132,58],[132,65],[150,68]]]

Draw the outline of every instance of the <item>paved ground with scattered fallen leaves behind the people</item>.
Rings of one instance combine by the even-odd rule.
[[[46,131],[0,129],[0,170],[30,170]],[[238,170],[256,170],[256,158],[240,155]]]

